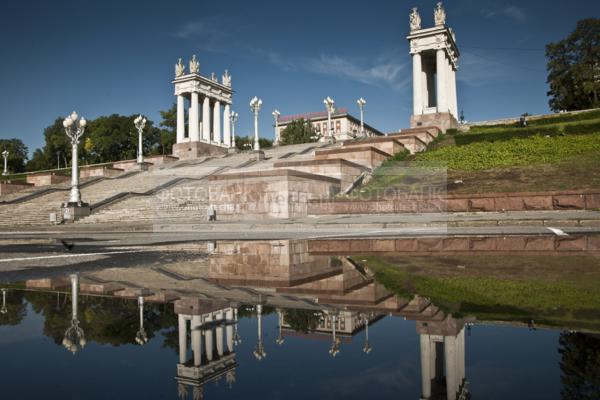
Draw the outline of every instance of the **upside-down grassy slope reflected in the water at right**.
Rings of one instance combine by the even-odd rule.
[[[600,330],[597,257],[356,259],[393,292],[425,296],[455,316]]]

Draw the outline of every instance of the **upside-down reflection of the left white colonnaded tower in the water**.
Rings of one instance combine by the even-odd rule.
[[[187,398],[191,387],[192,398],[201,399],[204,385],[218,381],[223,376],[232,385],[237,367],[234,352],[237,320],[234,319],[234,309],[225,302],[182,299],[175,302],[175,313],[178,314],[179,323],[179,363],[175,377],[179,397]],[[188,359],[188,322],[193,353],[191,360]]]

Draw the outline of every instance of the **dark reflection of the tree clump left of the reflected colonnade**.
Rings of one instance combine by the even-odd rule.
[[[37,313],[44,316],[44,334],[60,344],[71,323],[69,294],[27,292],[26,299]],[[135,344],[139,328],[137,299],[79,296],[81,327],[89,342],[119,346]],[[144,305],[144,328],[148,338],[158,331],[177,329],[177,316],[173,307],[164,304]],[[171,347],[171,346],[168,346]],[[176,347],[173,347],[176,348]]]

